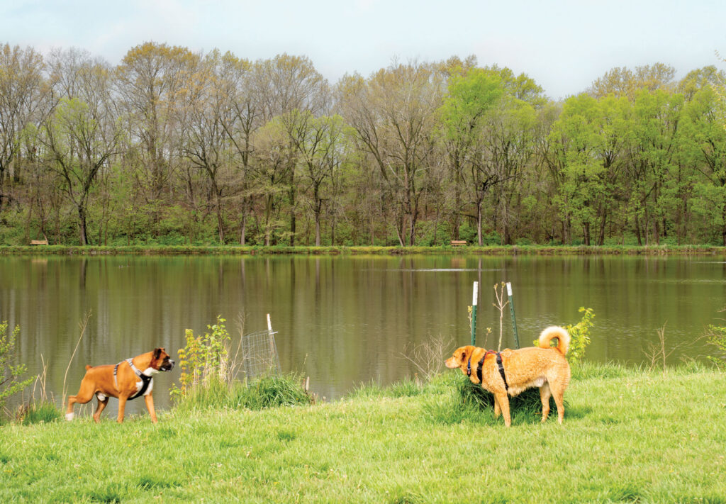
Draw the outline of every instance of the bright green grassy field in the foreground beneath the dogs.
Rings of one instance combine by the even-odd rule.
[[[726,376],[592,367],[565,423],[457,405],[453,371],[272,410],[0,427],[0,502],[726,503]]]

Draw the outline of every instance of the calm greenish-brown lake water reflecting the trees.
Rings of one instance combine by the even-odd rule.
[[[417,369],[404,355],[417,345],[444,338],[448,354],[468,344],[475,280],[477,344],[488,348],[499,337],[492,286],[501,281],[513,284],[522,346],[547,325],[579,321],[580,306],[594,309],[587,350],[594,361],[650,362],[646,351],[663,325],[670,363],[704,359],[711,353],[704,327],[726,317],[718,312],[726,304],[721,257],[7,256],[0,257],[0,320],[20,325],[21,361],[37,374],[44,359],[46,389],[60,402],[86,312],[68,394],[86,364],[155,346],[178,360],[184,330],[202,333],[219,314],[236,347],[240,332],[266,329],[269,313],[282,370],[309,375],[312,391],[336,399],[363,382],[412,376]],[[507,306],[502,346],[513,345]],[[155,379],[158,407],[168,406],[178,378],[177,367]],[[142,409],[139,400],[127,411]],[[113,418],[115,401],[108,410]]]

